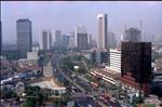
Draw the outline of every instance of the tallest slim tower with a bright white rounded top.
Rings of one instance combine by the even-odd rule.
[[[107,14],[98,14],[98,48],[100,50],[108,49],[108,24],[107,24]]]

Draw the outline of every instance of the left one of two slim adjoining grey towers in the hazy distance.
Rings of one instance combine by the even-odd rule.
[[[48,50],[48,31],[42,31],[42,48],[43,50]]]

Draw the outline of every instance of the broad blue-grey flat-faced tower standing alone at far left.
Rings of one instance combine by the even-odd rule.
[[[21,52],[31,52],[32,50],[32,28],[31,21],[21,18],[16,21],[17,50]]]

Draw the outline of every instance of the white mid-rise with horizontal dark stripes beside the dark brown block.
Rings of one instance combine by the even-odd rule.
[[[110,70],[121,72],[121,51],[110,49]]]

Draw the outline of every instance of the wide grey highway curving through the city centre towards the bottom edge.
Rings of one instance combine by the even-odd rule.
[[[83,94],[83,96],[84,95],[86,96],[89,94],[89,96],[92,97],[92,101],[92,101],[85,101],[86,105],[91,104],[91,105],[93,105],[92,107],[107,107],[107,105],[104,104],[103,102],[96,101],[95,95],[99,96],[100,93],[98,93],[98,92],[92,93],[92,86],[90,85],[90,83],[87,83],[82,78],[80,78],[80,76],[78,76],[78,73],[76,73],[75,71],[71,71],[70,69],[60,69],[60,67],[59,67],[60,58],[62,58],[62,55],[53,55],[52,56],[51,63],[52,63],[53,68],[57,69],[56,71],[58,73],[60,73],[66,80],[68,80],[71,83],[70,86],[73,85],[77,89],[79,89],[81,91],[81,94]],[[94,94],[94,93],[96,93],[96,94]],[[76,92],[73,95],[76,95]],[[75,99],[77,99],[77,98],[75,98]],[[85,104],[83,104],[83,105],[85,105]]]

